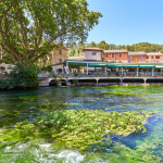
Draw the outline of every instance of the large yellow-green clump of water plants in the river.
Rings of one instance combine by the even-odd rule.
[[[62,145],[68,149],[85,150],[92,143],[102,143],[104,135],[127,136],[138,130],[146,131],[142,121],[147,121],[148,117],[136,111],[110,113],[84,109],[45,111],[42,114],[35,118],[34,124],[26,121],[17,123],[13,128],[1,130],[1,139],[14,142],[49,138],[53,141],[53,146]],[[108,139],[110,143],[110,137]]]

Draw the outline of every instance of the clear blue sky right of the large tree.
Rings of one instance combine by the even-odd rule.
[[[101,12],[87,42],[163,45],[163,0],[87,0],[88,9]]]

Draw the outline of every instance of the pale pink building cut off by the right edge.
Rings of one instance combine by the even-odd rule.
[[[146,62],[147,63],[163,63],[163,54],[162,53],[147,53]]]

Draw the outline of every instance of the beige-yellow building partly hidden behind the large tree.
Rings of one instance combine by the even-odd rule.
[[[40,65],[43,66],[47,65],[53,65],[52,71],[54,73],[63,72],[63,62],[67,59],[67,49],[61,45],[58,45],[58,47],[53,48],[53,50],[50,52],[50,54],[46,58],[40,60]]]

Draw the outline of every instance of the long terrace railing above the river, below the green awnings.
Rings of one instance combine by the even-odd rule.
[[[38,74],[38,77],[54,77],[54,78],[67,78],[67,77],[163,77],[163,73],[160,72],[154,72],[153,75],[151,72],[124,72],[123,74],[117,73],[117,72],[112,72],[112,73],[89,73],[88,75],[86,73],[43,73],[43,74]]]

